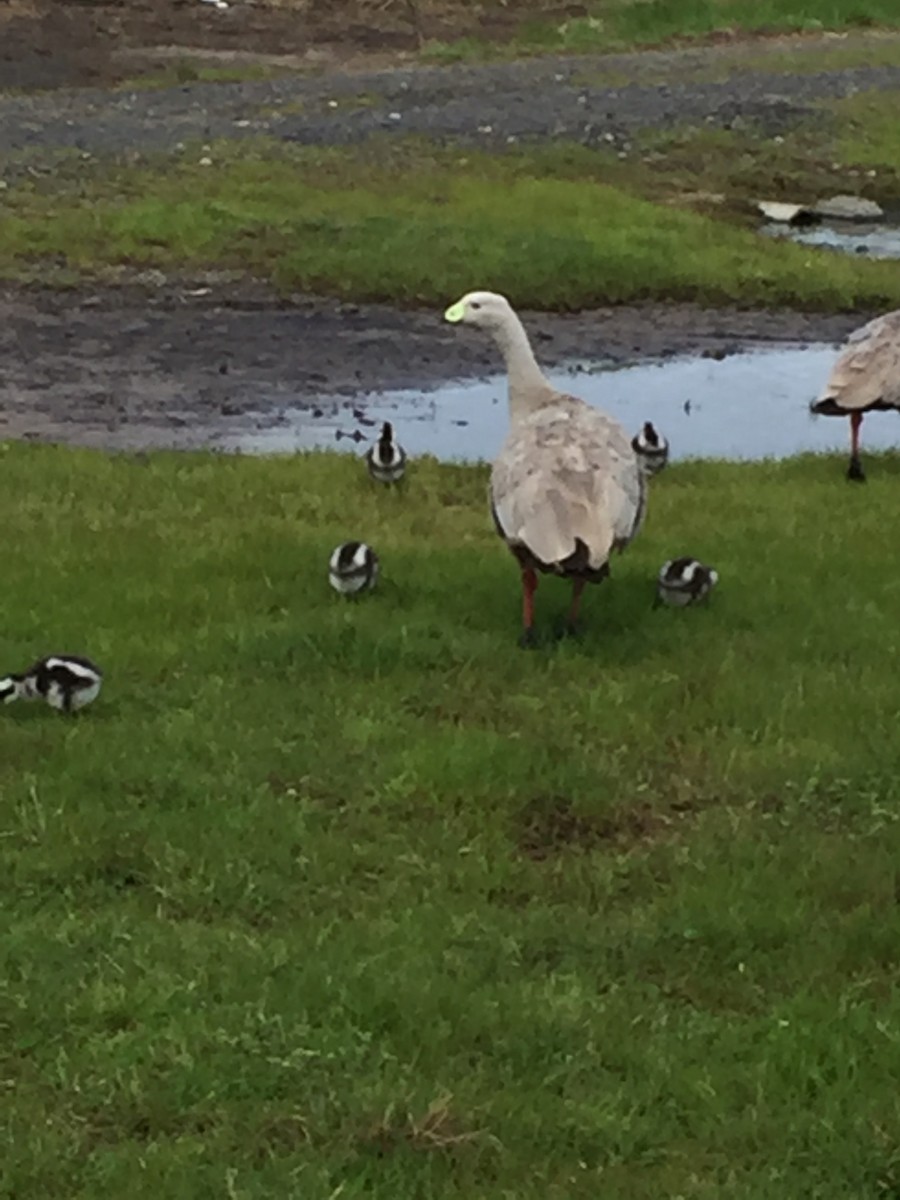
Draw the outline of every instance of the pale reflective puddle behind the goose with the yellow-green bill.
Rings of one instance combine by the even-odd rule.
[[[809,413],[835,356],[834,347],[779,347],[721,361],[673,358],[619,368],[575,365],[547,373],[558,388],[602,407],[630,431],[653,421],[668,438],[672,460],[780,458],[847,448],[846,420]],[[492,458],[508,426],[505,379],[367,395],[352,403],[323,403],[316,410],[287,409],[280,424],[235,436],[229,448],[250,454],[314,448],[360,454],[384,420],[394,422],[409,454]],[[359,440],[353,440],[354,433]],[[865,421],[864,448],[898,444],[900,426],[893,414]]]

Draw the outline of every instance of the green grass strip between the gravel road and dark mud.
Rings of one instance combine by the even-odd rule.
[[[197,157],[8,188],[0,274],[48,260],[86,272],[221,266],[286,290],[427,305],[481,280],[522,305],[560,310],[650,298],[847,310],[900,301],[892,264],[774,244],[637,199],[600,181],[608,155],[378,143],[360,152],[214,146],[211,167]]]

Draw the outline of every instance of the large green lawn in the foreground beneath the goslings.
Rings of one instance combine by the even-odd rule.
[[[0,1194],[896,1194],[869,468],[670,468],[584,642],[526,654],[482,469],[5,448],[4,665],[107,684],[0,713]],[[652,611],[673,552],[707,610]]]

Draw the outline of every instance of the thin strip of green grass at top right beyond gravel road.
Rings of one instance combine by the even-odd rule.
[[[565,20],[535,16],[510,41],[469,35],[426,47],[438,61],[464,61],[522,53],[596,53],[673,41],[703,41],[740,34],[900,28],[895,0],[625,0],[590,5]]]

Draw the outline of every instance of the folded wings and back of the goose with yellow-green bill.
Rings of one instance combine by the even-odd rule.
[[[598,570],[643,516],[644,481],[628,434],[571,396],[516,422],[491,475],[497,523],[539,562],[563,563],[583,542]]]

